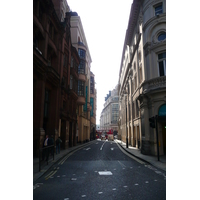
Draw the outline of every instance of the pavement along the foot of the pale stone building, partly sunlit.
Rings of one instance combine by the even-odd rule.
[[[151,155],[143,155],[139,149],[136,149],[135,147],[129,146],[128,149],[126,148],[126,143],[122,142],[121,140],[115,139],[115,142],[117,142],[121,147],[124,148],[128,153],[132,154],[136,158],[139,158],[143,160],[144,162],[148,162],[154,167],[157,167],[159,169],[162,169],[166,171],[166,156],[160,156],[160,161],[158,161],[157,156],[151,156]]]

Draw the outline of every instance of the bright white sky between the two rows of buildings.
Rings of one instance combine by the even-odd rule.
[[[91,71],[95,75],[97,89],[97,124],[100,124],[105,96],[118,83],[132,2],[133,0],[67,0],[70,9],[81,18],[92,58]]]

